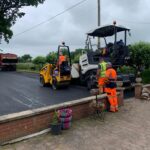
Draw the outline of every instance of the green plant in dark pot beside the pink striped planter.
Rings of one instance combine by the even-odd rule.
[[[59,119],[58,112],[55,110],[51,123],[51,133],[53,135],[58,135],[61,133],[61,122]]]

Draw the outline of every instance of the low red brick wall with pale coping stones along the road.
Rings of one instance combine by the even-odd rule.
[[[93,109],[89,107],[93,99],[95,96],[0,116],[0,144],[49,128],[54,110],[69,107],[73,110],[74,120],[86,117],[93,112]],[[98,99],[106,102],[106,94],[99,96]],[[118,94],[118,100],[119,104],[123,101],[120,94]]]

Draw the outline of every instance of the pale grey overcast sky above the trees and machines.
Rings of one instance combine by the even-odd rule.
[[[85,33],[97,26],[97,0],[87,0],[55,19],[24,32],[80,1],[45,0],[37,8],[23,8],[26,15],[13,26],[14,37],[9,44],[2,42],[0,48],[4,52],[19,56],[30,54],[33,57],[57,50],[61,41],[65,41],[71,50],[84,48]],[[111,24],[113,20],[131,29],[128,43],[150,41],[149,0],[101,0],[101,24]]]

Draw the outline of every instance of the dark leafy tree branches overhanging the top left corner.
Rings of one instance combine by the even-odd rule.
[[[4,38],[6,42],[13,36],[11,30],[17,18],[25,15],[20,11],[24,6],[38,6],[45,0],[0,0],[0,40]]]

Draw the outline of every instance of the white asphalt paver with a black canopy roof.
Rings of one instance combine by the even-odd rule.
[[[117,40],[118,34],[124,33],[124,40]],[[88,89],[95,88],[97,86],[96,72],[98,69],[99,60],[101,57],[106,61],[112,63],[113,68],[118,70],[119,67],[129,63],[130,55],[127,45],[127,33],[130,32],[129,28],[124,26],[118,26],[116,23],[112,25],[105,25],[91,30],[87,33],[86,39],[86,51],[79,58],[79,64],[72,65],[72,78],[78,78],[81,83],[87,85]],[[113,40],[114,36],[114,40]],[[93,38],[103,38],[105,43],[104,47],[97,47],[94,50],[92,44]],[[113,42],[107,43],[106,38],[113,40]],[[118,73],[118,79],[122,81],[124,86],[130,85],[135,80],[134,74],[121,74]]]

